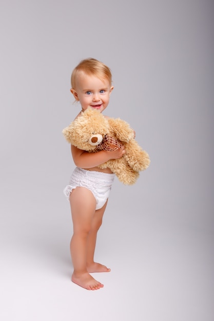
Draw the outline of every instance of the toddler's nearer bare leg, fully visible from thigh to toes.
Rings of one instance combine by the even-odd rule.
[[[88,289],[98,290],[103,284],[96,281],[87,271],[87,239],[95,212],[96,201],[91,191],[77,187],[70,195],[70,205],[73,220],[73,236],[70,243],[73,263],[72,282]]]

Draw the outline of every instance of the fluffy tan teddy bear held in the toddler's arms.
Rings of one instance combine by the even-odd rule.
[[[112,151],[125,146],[125,154],[118,159],[110,159],[99,168],[115,173],[120,182],[132,185],[139,172],[150,164],[150,158],[137,141],[129,124],[120,118],[105,117],[99,110],[87,108],[68,127],[63,129],[68,143],[87,152]]]

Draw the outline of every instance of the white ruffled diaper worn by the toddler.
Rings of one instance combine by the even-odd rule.
[[[69,200],[72,189],[85,187],[93,193],[96,199],[96,210],[99,210],[109,197],[114,177],[113,173],[88,171],[76,167],[71,175],[69,185],[64,188],[64,194]]]

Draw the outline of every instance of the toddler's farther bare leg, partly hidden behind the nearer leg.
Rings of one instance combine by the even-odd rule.
[[[98,230],[102,225],[103,215],[106,209],[107,202],[108,200],[106,201],[105,205],[101,209],[95,211],[92,218],[91,229],[88,234],[88,240],[87,240],[87,271],[89,273],[110,272],[110,269],[108,269],[105,265],[94,262],[96,235],[98,234]]]

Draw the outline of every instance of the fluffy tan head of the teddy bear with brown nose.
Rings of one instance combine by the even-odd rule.
[[[79,149],[94,151],[109,132],[109,124],[99,110],[87,108],[68,127],[63,135],[68,143]]]

